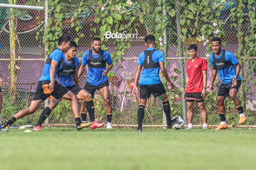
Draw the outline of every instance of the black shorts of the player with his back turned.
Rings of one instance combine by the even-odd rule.
[[[163,87],[163,83],[158,84],[140,84],[140,98],[148,99],[153,94],[154,97],[158,97],[165,94],[166,90]]]

